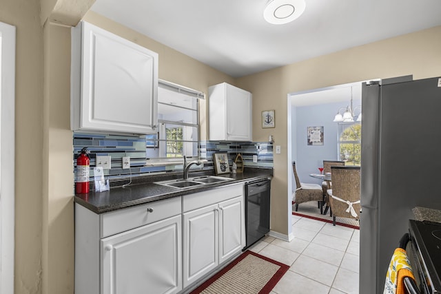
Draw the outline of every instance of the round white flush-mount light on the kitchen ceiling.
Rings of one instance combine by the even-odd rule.
[[[305,0],[269,0],[263,17],[274,25],[294,21],[305,11]]]

